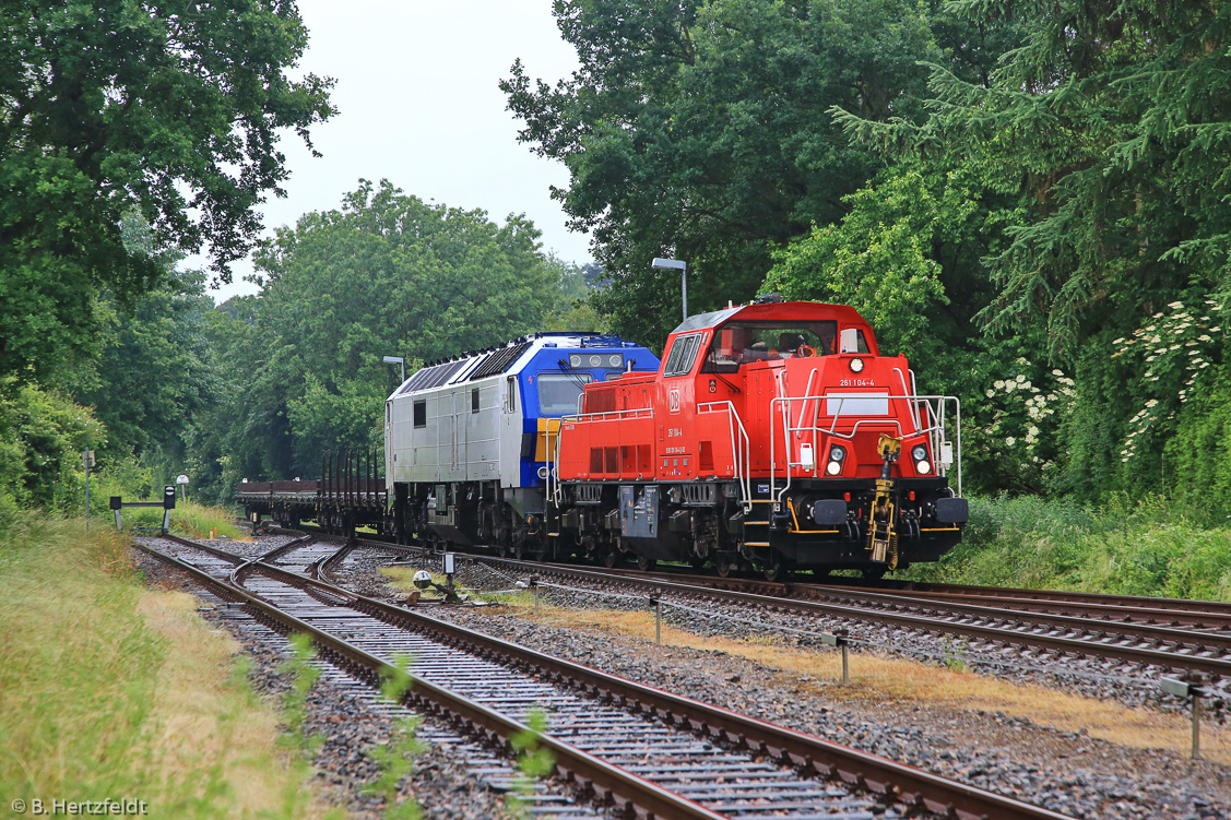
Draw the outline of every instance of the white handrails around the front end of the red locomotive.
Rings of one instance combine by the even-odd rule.
[[[905,379],[904,379],[904,384],[905,384]],[[811,379],[809,379],[809,388],[811,388]],[[859,419],[858,421],[854,422],[854,425],[851,427],[851,430],[848,432],[840,432],[837,430],[837,426],[838,426],[838,421],[842,417],[842,405],[846,403],[846,400],[847,399],[867,399],[867,398],[869,398],[869,395],[874,395],[878,399],[883,398],[886,401],[906,401],[906,403],[908,403],[907,408],[911,411],[911,414],[910,414],[911,420],[915,421],[915,430],[910,431],[910,432],[905,432],[902,430],[902,422],[901,422],[900,417],[891,417],[891,416],[886,415],[884,419]],[[837,401],[838,401],[837,411],[833,412],[833,414],[827,414],[827,412],[822,414],[820,411],[820,406],[821,405],[817,404],[816,422],[812,424],[812,425],[804,425],[803,424],[804,411],[808,408],[808,403],[809,401],[814,401],[814,400],[817,401],[817,403],[820,403],[822,400],[828,400],[828,399],[837,399]],[[792,426],[792,424],[790,424],[790,404],[793,401],[800,401],[800,403],[803,403],[803,408],[800,409],[800,414],[799,414],[800,421],[795,426]],[[933,401],[936,403],[934,405],[933,405]],[[947,409],[947,406],[949,405],[950,401],[953,403],[953,406],[954,406],[954,421],[955,421],[955,425],[956,425],[956,437],[955,437],[955,441],[954,441],[955,452],[954,452],[954,462],[953,462],[953,464],[954,464],[954,468],[955,468],[956,474],[958,474],[958,495],[960,496],[961,495],[961,401],[958,399],[958,396],[953,396],[953,395],[915,395],[915,394],[890,395],[890,394],[883,394],[883,393],[870,394],[868,392],[862,392],[862,393],[826,393],[826,394],[822,394],[822,395],[806,395],[806,394],[805,395],[794,395],[794,396],[778,395],[778,396],[772,398],[769,400],[769,417],[771,419],[776,417],[776,410],[778,411],[777,415],[779,415],[782,417],[783,446],[787,448],[787,464],[785,464],[787,483],[779,490],[777,488],[777,468],[778,468],[778,459],[777,459],[777,452],[776,452],[777,436],[774,435],[773,428],[771,427],[771,432],[769,432],[769,491],[771,491],[771,494],[774,494],[774,491],[777,490],[776,499],[774,499],[774,507],[776,508],[780,508],[780,505],[783,504],[783,499],[785,497],[787,491],[790,489],[790,484],[792,484],[792,480],[794,478],[792,475],[792,468],[793,467],[810,467],[811,470],[812,470],[812,476],[814,478],[816,476],[816,473],[820,469],[820,463],[821,463],[821,453],[820,453],[820,449],[817,447],[817,443],[819,443],[817,442],[817,436],[819,436],[819,433],[824,432],[826,436],[830,436],[830,437],[833,437],[833,438],[842,438],[842,440],[846,440],[846,441],[852,441],[854,438],[856,433],[859,431],[859,427],[862,425],[892,426],[892,427],[896,427],[897,436],[900,438],[905,437],[907,435],[911,435],[911,436],[927,436],[928,437],[928,443],[929,443],[929,446],[932,448],[936,474],[939,475],[939,476],[942,476],[942,478],[948,474],[948,468],[944,465],[944,462],[938,458],[938,456],[942,452],[943,444],[949,443],[948,440],[945,438],[945,435],[944,435],[944,424],[945,424],[945,419],[947,419],[945,409]],[[774,405],[778,405],[778,406],[776,408]],[[920,405],[923,405],[923,406],[927,408],[927,417],[928,417],[928,422],[929,422],[927,427],[923,427],[922,424],[921,424],[920,415],[918,415],[918,408],[920,408]],[[826,405],[826,408],[827,408],[827,405]],[[828,428],[824,428],[821,426],[821,420],[825,419],[825,417],[831,419]],[[798,433],[811,433],[811,444],[812,444],[812,462],[811,462],[811,464],[808,464],[806,462],[792,462],[790,460],[790,435],[792,433],[796,433],[796,435]]]

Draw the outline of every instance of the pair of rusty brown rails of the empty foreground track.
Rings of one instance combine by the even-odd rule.
[[[227,593],[243,600],[245,608],[254,612],[260,611],[265,618],[277,621],[283,628],[311,635],[313,643],[325,650],[327,659],[341,660],[343,667],[359,672],[369,682],[396,673],[374,655],[283,612],[246,590],[220,582],[208,574],[196,570],[186,561],[165,557],[148,547],[143,547],[143,549],[160,559],[169,559],[169,563],[181,565],[197,577],[203,576],[202,580],[212,586],[222,585]],[[950,781],[814,735],[777,726],[721,707],[543,655],[492,635],[422,616],[406,608],[394,607],[331,584],[288,573],[281,568],[260,561],[254,563],[254,568],[300,589],[311,587],[341,598],[346,602],[345,606],[391,625],[414,629],[468,651],[478,651],[487,657],[499,657],[497,662],[532,671],[537,670],[558,682],[566,682],[608,703],[614,702],[635,712],[656,717],[678,729],[708,736],[723,745],[748,749],[778,765],[811,771],[825,778],[835,778],[860,790],[900,800],[916,809],[963,820],[977,818],[1067,820],[1066,815],[1013,798]],[[414,673],[410,677],[412,686],[406,697],[412,705],[427,707],[432,710],[443,709],[469,723],[473,730],[489,736],[495,734],[507,740],[526,730],[521,723],[500,712],[467,699]],[[709,818],[710,820],[728,816],[714,813],[678,793],[581,751],[550,734],[543,735],[540,742],[555,752],[558,768],[563,773],[591,784],[599,795],[607,793],[618,797],[620,802],[638,806],[641,809],[638,814],[646,813],[660,818]],[[625,813],[632,814],[632,805],[625,806]]]

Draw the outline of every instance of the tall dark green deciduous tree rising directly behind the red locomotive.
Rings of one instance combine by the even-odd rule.
[[[501,89],[521,140],[569,167],[555,196],[612,279],[596,305],[649,344],[680,307],[654,256],[688,261],[698,312],[751,297],[771,243],[836,220],[878,165],[824,111],[921,115],[918,62],[945,55],[927,7],[897,0],[554,7],[581,68],[553,87],[518,60]]]

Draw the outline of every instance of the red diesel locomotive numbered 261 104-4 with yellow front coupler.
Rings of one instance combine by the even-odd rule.
[[[906,357],[842,305],[691,316],[656,373],[586,384],[553,443],[549,552],[608,565],[878,576],[938,559],[968,517],[958,400],[918,395]]]

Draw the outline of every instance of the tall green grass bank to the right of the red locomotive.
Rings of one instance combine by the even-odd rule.
[[[1231,601],[1231,528],[1201,526],[1163,499],[1103,508],[971,499],[963,543],[897,577]]]

